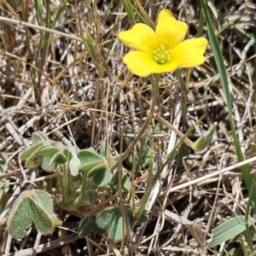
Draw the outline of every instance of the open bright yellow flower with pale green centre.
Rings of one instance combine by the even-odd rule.
[[[131,30],[119,32],[120,41],[135,49],[123,61],[132,73],[147,77],[151,73],[172,72],[179,67],[195,67],[206,61],[206,38],[184,40],[188,26],[168,9],[160,11],[155,31],[137,23]]]

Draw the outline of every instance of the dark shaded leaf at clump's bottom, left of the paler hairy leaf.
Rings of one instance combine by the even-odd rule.
[[[105,230],[97,226],[95,217],[92,215],[86,215],[79,224],[78,233],[80,237],[84,237],[89,235],[90,231],[98,235],[102,235]]]

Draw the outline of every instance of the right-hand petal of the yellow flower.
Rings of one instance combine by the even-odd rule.
[[[178,67],[195,67],[201,65],[206,58],[204,54],[207,49],[206,38],[191,38],[183,41],[172,49],[171,61]]]

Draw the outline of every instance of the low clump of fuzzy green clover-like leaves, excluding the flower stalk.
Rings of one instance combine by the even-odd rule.
[[[106,203],[98,203],[105,197],[107,188],[113,198],[119,194],[119,175],[113,175],[107,160],[95,150],[77,150],[50,140],[43,132],[32,135],[32,146],[21,155],[30,169],[41,166],[46,172],[55,172],[57,178],[57,206],[71,212],[82,221],[79,225],[79,236],[87,236],[90,231],[105,234],[113,241],[119,241],[128,234],[130,224],[134,223],[134,212],[129,205],[119,204],[111,207]],[[131,182],[122,173],[121,185],[123,195],[131,189]],[[115,195],[115,196],[114,196]],[[61,220],[54,212],[54,202],[48,192],[41,189],[23,191],[9,214],[8,230],[15,238],[26,236],[26,230],[34,224],[43,235],[50,234]],[[146,221],[143,212],[137,224]]]

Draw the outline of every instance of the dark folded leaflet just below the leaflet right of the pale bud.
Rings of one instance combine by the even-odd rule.
[[[102,166],[96,166],[95,168],[91,169],[88,177],[92,177],[93,182],[99,186],[103,187],[110,182],[111,172],[108,166],[105,163]]]

